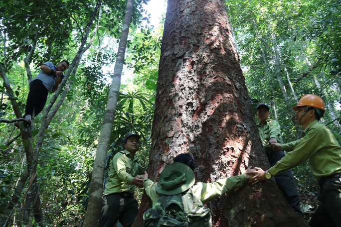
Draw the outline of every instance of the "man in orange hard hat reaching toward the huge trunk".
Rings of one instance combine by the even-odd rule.
[[[311,227],[341,226],[341,147],[330,129],[319,120],[325,113],[323,100],[316,95],[302,96],[294,107],[296,120],[304,128],[305,136],[296,141],[272,144],[275,150],[291,151],[273,167],[264,171],[255,168],[253,184],[270,179],[278,173],[309,160],[309,168],[320,185],[318,199],[321,204],[315,211]]]

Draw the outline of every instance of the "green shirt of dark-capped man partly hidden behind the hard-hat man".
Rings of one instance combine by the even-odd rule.
[[[258,123],[257,128],[262,140],[264,150],[271,151],[271,146],[266,144],[269,143],[269,140],[272,137],[276,138],[277,141],[280,141],[279,138],[281,135],[281,126],[279,125],[277,120],[267,119],[263,125],[260,125],[260,123]]]

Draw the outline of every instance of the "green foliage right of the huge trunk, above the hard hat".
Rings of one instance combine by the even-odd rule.
[[[340,68],[340,51],[336,52],[341,46],[340,13],[336,13],[340,4],[326,0],[236,0],[227,2],[227,10],[249,95],[255,103],[275,104],[285,141],[295,139],[287,102],[294,106],[303,94],[319,95],[329,104],[325,122],[340,116],[334,106],[340,99],[340,80],[334,77]],[[288,93],[288,101],[281,89]],[[340,140],[340,125],[329,126]]]

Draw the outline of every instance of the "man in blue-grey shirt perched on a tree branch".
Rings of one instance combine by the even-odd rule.
[[[44,108],[49,91],[55,92],[62,81],[63,72],[69,67],[69,62],[63,60],[57,66],[52,62],[45,62],[40,66],[40,73],[29,85],[29,93],[26,101],[25,119],[26,124],[32,122],[34,116],[38,115]]]

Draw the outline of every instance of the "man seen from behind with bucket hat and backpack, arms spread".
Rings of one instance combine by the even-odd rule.
[[[153,208],[144,213],[144,226],[154,227],[156,224],[166,226],[183,226],[189,222],[193,227],[210,227],[211,215],[203,204],[225,192],[246,184],[253,174],[249,167],[245,174],[217,180],[213,183],[195,183],[194,169],[196,161],[192,154],[177,155],[174,163],[168,165],[160,174],[159,182],[148,179],[148,173],[142,175],[143,186],[153,201]],[[172,207],[170,211],[164,208]],[[178,208],[176,208],[178,207]],[[187,223],[188,224],[188,223]],[[168,225],[167,225],[168,226]]]

